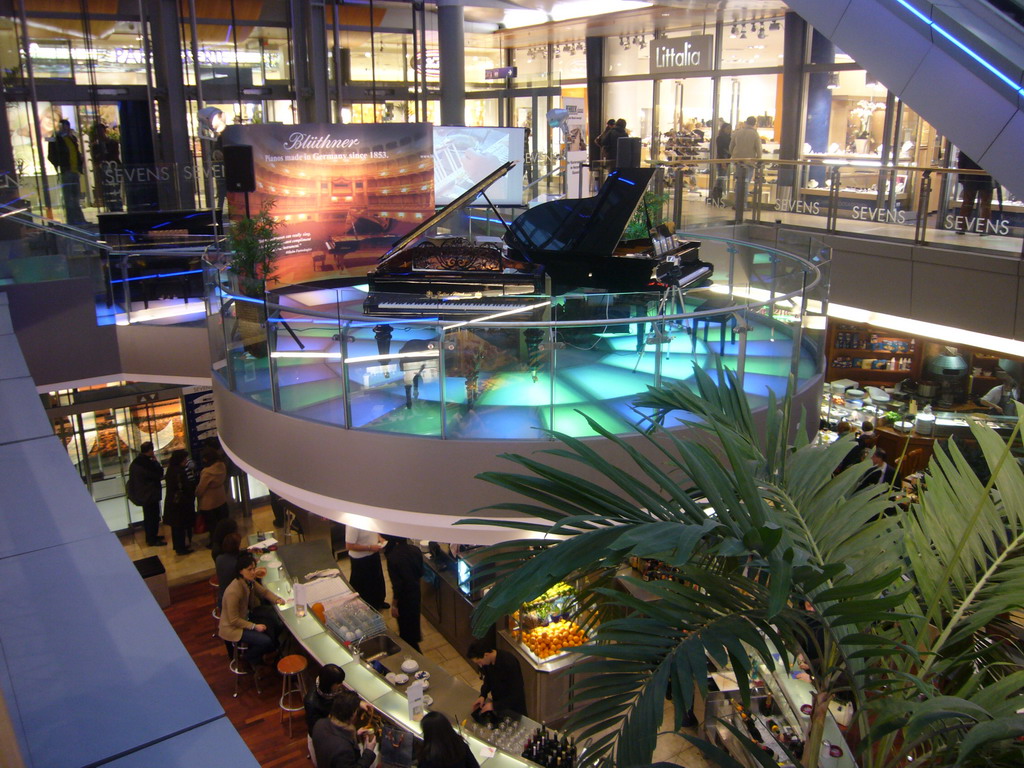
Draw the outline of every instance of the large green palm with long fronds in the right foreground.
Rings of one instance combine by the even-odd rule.
[[[920,500],[902,506],[885,487],[859,487],[867,462],[834,475],[852,438],[812,443],[790,397],[772,397],[758,426],[731,372],[715,381],[698,370],[694,389],[651,388],[636,404],[682,414],[710,440],[658,427],[644,435],[653,451],[642,452],[592,421],[610,451],[553,433],[561,444],[547,458],[506,456],[518,471],[481,475],[527,499],[495,509],[532,519],[472,521],[531,537],[492,558],[495,586],[474,630],[556,582],[584,585],[591,641],[572,649],[581,659],[566,726],[593,739],[584,764],[650,765],[666,690],[678,730],[708,696],[707,659],[731,666],[748,705],[756,677],[786,677],[801,657],[813,687],[806,741],[791,761],[799,768],[830,764],[819,755],[836,748],[826,726],[837,697],[852,707],[848,739],[863,768],[1024,764],[1020,641],[1005,618],[1024,594],[1024,471],[1012,454],[1021,424],[1009,440],[972,426],[987,480],[950,443]],[[537,539],[547,526],[554,536]],[[678,575],[633,579],[652,596],[641,601],[621,575],[630,557]],[[624,582],[625,591],[610,588]],[[740,762],[686,736],[712,764],[776,765],[740,729],[717,724],[750,754]]]

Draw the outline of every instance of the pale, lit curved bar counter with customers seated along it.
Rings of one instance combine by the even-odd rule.
[[[345,683],[352,690],[393,723],[419,736],[420,724],[409,716],[409,703],[403,690],[406,686],[391,685],[367,662],[353,655],[341,641],[325,629],[312,611],[307,610],[304,616],[295,613],[292,584],[305,583],[306,577],[317,570],[338,570],[338,564],[332,557],[327,542],[311,541],[283,545],[279,547],[276,555],[282,567],[267,567],[263,584],[271,592],[288,600],[285,605],[278,606],[278,611],[295,639],[317,664],[336,664],[341,667],[345,671]],[[272,562],[272,555],[269,560]],[[443,713],[453,721],[453,725],[459,728],[460,724],[469,718],[479,691],[450,675],[396,635],[389,632],[388,637],[400,650],[377,660],[389,671],[400,672],[403,660],[415,659],[421,670],[430,673],[430,686],[426,693],[433,698],[433,703],[427,709]],[[472,720],[470,722],[472,723]],[[535,728],[540,727],[540,723],[523,718],[521,726],[531,733]],[[463,731],[462,735],[482,768],[526,768],[536,765],[518,754],[496,751],[479,732],[467,730]]]

